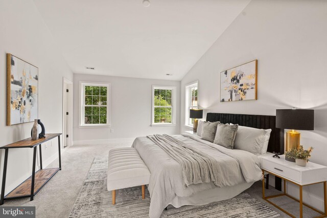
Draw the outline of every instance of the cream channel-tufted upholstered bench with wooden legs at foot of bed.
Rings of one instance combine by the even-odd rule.
[[[116,148],[109,151],[107,188],[112,193],[112,204],[116,202],[116,189],[149,184],[150,171],[135,148]]]

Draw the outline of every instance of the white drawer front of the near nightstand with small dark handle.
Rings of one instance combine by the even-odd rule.
[[[275,173],[277,175],[281,175],[285,178],[291,179],[295,182],[300,182],[301,174],[299,171],[287,168],[283,165],[279,165],[274,162],[270,162],[268,160],[263,159],[262,168],[270,171],[271,173]]]

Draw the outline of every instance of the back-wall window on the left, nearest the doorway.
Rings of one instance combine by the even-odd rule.
[[[81,82],[81,126],[110,125],[110,84]]]

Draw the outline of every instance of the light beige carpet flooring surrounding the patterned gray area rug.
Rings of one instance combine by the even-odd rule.
[[[40,192],[34,196],[34,201],[30,201],[29,198],[6,200],[3,206],[36,206],[37,218],[68,217],[94,158],[98,156],[107,156],[109,150],[113,148],[130,146],[131,143],[110,143],[105,145],[74,145],[65,148],[61,155],[62,170],[46,183]],[[55,160],[46,168],[53,167],[58,167],[58,160]],[[260,181],[255,182],[245,192],[281,214],[279,217],[289,217],[283,211],[276,209],[262,199],[262,186]],[[267,195],[275,195],[279,192],[273,187],[270,187],[266,190],[266,193]],[[280,197],[276,199],[276,203],[299,217],[299,204],[297,202],[286,197]],[[2,206],[0,206],[0,209],[1,207]],[[303,217],[314,217],[317,215],[319,214],[307,207],[303,207]]]

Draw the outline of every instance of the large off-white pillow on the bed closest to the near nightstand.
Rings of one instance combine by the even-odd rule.
[[[234,148],[248,151],[252,154],[264,154],[267,152],[270,132],[271,129],[265,130],[239,126]]]

